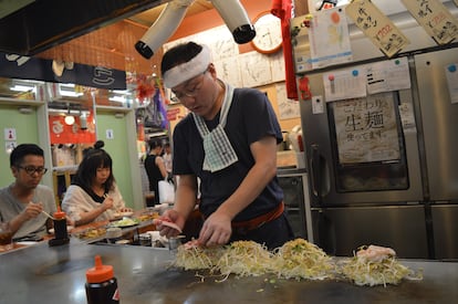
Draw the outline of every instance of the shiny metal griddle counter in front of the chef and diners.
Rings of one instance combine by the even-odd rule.
[[[0,255],[0,303],[85,303],[85,272],[100,254],[113,265],[121,303],[457,303],[458,263],[402,260],[424,270],[421,281],[356,286],[350,282],[272,280],[273,275],[201,280],[195,271],[168,268],[167,249],[95,245],[72,238]],[[202,272],[199,272],[202,274]]]

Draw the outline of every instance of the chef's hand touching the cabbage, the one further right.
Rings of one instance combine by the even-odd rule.
[[[216,211],[204,222],[198,242],[206,247],[222,245],[229,242],[231,234],[231,218]]]

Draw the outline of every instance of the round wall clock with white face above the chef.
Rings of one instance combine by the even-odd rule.
[[[254,50],[262,54],[272,54],[281,49],[283,39],[281,35],[281,20],[270,11],[263,11],[252,21],[256,36],[251,40]]]

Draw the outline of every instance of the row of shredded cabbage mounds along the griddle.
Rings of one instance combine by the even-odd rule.
[[[363,247],[352,259],[337,260],[303,239],[284,243],[273,251],[253,241],[237,241],[225,247],[202,248],[183,244],[173,265],[185,270],[209,270],[225,281],[231,273],[238,276],[275,274],[279,279],[351,280],[356,285],[398,284],[403,279],[421,280],[402,265],[388,248]]]

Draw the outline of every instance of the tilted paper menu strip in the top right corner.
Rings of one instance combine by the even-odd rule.
[[[438,44],[458,38],[458,20],[437,0],[402,0],[417,22]]]

